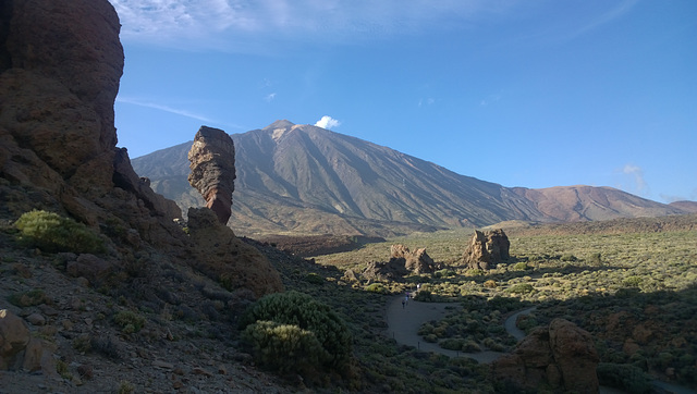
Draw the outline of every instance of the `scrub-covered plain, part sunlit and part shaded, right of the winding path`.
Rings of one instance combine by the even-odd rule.
[[[463,352],[510,350],[515,340],[503,330],[503,318],[536,306],[518,320],[518,328],[530,331],[561,317],[589,331],[603,362],[599,375],[604,384],[641,392],[638,386],[645,381],[633,377],[652,375],[694,390],[697,220],[695,216],[665,220],[662,225],[656,219],[598,222],[595,227],[579,223],[577,232],[573,224],[512,230],[513,259],[489,271],[458,263],[472,235],[465,231],[416,234],[315,259],[360,273],[368,261],[387,260],[392,244],[426,247],[454,274],[370,284],[398,293],[423,283],[425,291],[417,299],[450,299],[463,306],[441,321],[424,324],[419,333],[425,341]]]

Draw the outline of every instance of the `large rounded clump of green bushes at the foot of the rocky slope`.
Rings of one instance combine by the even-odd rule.
[[[307,294],[290,291],[267,295],[243,316],[244,342],[259,364],[307,378],[311,369],[339,370],[353,352],[351,333],[329,306]],[[289,343],[279,345],[279,342]],[[277,348],[269,348],[269,346]],[[283,349],[293,349],[294,358]]]

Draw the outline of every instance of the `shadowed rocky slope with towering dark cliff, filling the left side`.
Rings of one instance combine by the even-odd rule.
[[[208,209],[186,234],[115,147],[119,30],[107,0],[0,2],[0,391],[282,391],[211,352],[279,273]],[[98,251],[28,247],[12,223],[32,210]]]

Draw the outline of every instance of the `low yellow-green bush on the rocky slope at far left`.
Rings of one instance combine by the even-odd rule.
[[[48,253],[103,253],[105,241],[89,227],[58,213],[33,210],[14,222],[21,241]]]

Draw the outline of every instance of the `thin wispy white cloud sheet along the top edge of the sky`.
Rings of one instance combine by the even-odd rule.
[[[327,40],[405,34],[427,26],[461,26],[499,13],[511,1],[491,0],[110,0],[122,37],[150,44],[207,38],[209,45],[242,46],[246,37],[274,35]],[[509,5],[505,5],[509,4]],[[210,44],[215,41],[216,44]]]

